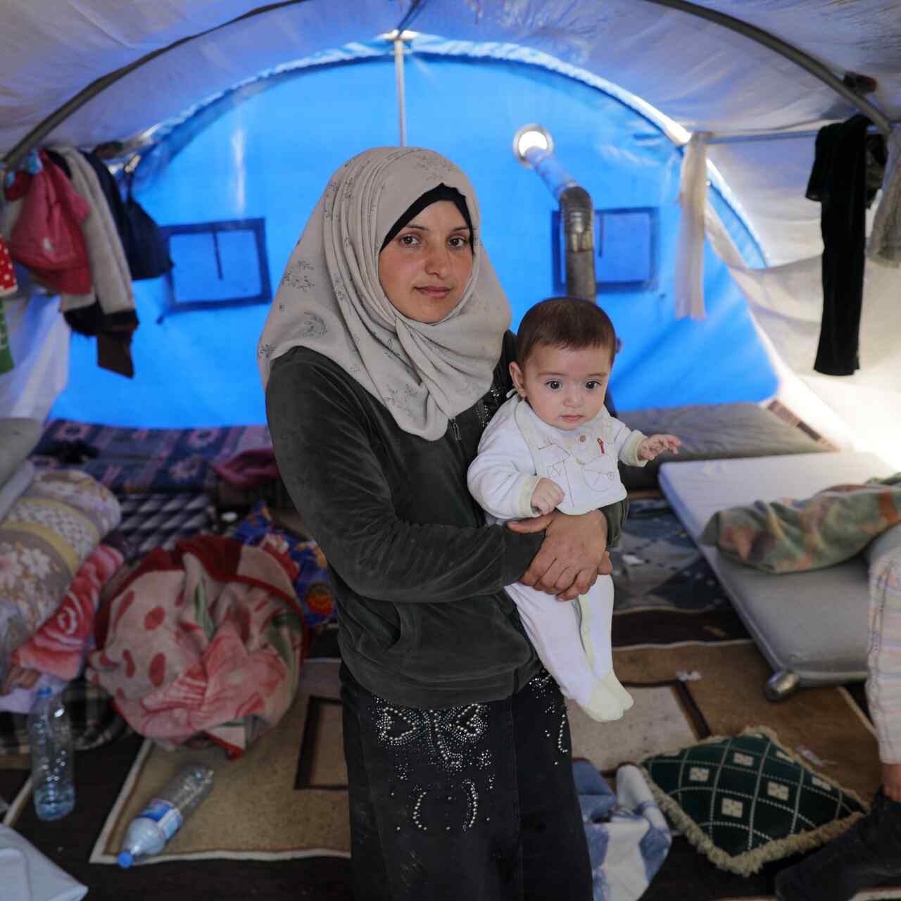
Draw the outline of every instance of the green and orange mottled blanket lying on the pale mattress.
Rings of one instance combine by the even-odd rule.
[[[901,522],[901,473],[836,485],[804,500],[755,501],[710,517],[699,542],[766,572],[823,569],[849,560]]]

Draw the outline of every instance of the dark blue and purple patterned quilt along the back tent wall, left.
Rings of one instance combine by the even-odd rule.
[[[271,444],[265,425],[132,429],[54,419],[32,460],[54,469],[80,455],[78,468],[117,495],[209,491],[217,479],[214,463]]]

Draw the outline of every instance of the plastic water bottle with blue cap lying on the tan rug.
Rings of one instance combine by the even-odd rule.
[[[120,867],[131,867],[139,857],[159,854],[181,828],[187,816],[213,788],[213,770],[202,763],[187,763],[128,826]]]

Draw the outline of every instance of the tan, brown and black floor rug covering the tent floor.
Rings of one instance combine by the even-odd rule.
[[[614,664],[635,697],[633,710],[614,724],[592,723],[578,710],[570,714],[574,753],[593,760],[608,778],[619,764],[651,751],[764,724],[815,768],[861,795],[878,783],[875,738],[851,694],[815,688],[769,704],[760,695],[767,664],[751,642],[619,649]],[[346,794],[339,708],[333,703],[336,668],[328,662],[307,666],[305,692],[283,724],[244,760],[213,761],[214,792],[164,859],[131,870],[110,865],[134,806],[181,760],[217,751],[159,751],[138,736],[86,751],[77,757],[75,814],[41,823],[26,794],[14,828],[88,886],[90,901],[160,895],[169,901],[350,901],[350,864],[341,856]],[[10,769],[4,775],[21,783],[27,772]],[[268,829],[269,820],[293,832],[279,836]],[[771,898],[775,873],[787,862],[742,878],[714,868],[677,838],[642,901]]]

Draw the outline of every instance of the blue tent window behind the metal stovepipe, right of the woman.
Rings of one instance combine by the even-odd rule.
[[[595,210],[595,278],[602,294],[657,287],[658,210],[633,206]],[[566,291],[566,250],[560,211],[551,211],[554,290]]]

